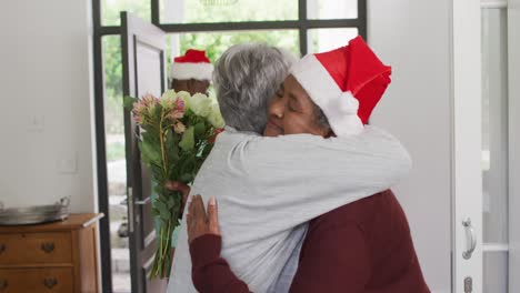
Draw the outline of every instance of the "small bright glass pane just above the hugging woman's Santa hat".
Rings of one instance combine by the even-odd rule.
[[[357,28],[311,29],[307,31],[309,53],[324,52],[346,46],[358,36]]]

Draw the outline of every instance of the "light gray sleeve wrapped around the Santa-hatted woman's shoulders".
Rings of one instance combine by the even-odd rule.
[[[387,190],[411,169],[402,144],[376,127],[346,138],[254,137],[236,145],[227,163],[250,188],[230,202],[251,224],[269,223],[269,233]]]

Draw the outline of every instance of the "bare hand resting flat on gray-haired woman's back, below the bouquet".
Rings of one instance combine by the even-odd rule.
[[[193,195],[188,206],[186,220],[189,243],[206,234],[220,236],[219,213],[214,196],[209,199],[208,212],[206,212],[202,196]]]

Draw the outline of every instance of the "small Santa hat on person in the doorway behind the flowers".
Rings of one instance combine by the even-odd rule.
[[[171,78],[177,80],[211,80],[212,73],[213,65],[201,50],[189,49],[171,64]]]

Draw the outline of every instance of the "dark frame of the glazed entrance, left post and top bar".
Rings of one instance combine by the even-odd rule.
[[[150,1],[151,22],[168,33],[216,32],[216,31],[249,31],[249,30],[298,30],[300,53],[307,53],[309,29],[357,28],[359,34],[367,38],[367,0],[358,0],[358,18],[356,19],[307,19],[307,0],[298,1],[298,19],[280,21],[243,21],[214,23],[166,23],[160,19],[160,0]],[[187,1],[187,0],[184,0]],[[120,36],[120,24],[103,24],[101,20],[101,0],[91,1],[92,16],[92,53],[94,81],[94,131],[96,131],[96,178],[98,211],[104,213],[100,228],[100,262],[102,292],[112,292],[111,247],[110,247],[110,211],[107,172],[107,144],[104,131],[104,82],[103,82],[103,47],[106,36]]]

